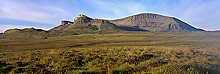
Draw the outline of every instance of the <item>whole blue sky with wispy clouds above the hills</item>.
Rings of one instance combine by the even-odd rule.
[[[209,31],[220,30],[220,0],[1,0],[0,32],[34,27],[48,30],[78,14],[119,19],[139,13],[176,17]]]

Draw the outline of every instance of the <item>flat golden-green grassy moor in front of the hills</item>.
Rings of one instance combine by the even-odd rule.
[[[220,73],[220,33],[0,39],[0,73]]]

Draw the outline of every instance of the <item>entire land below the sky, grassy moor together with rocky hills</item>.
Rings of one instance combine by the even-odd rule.
[[[219,74],[220,32],[151,13],[116,20],[79,15],[48,31],[1,33],[0,73]]]

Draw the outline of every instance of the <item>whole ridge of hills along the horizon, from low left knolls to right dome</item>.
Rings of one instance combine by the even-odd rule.
[[[93,19],[86,15],[78,15],[74,21],[62,21],[49,31],[26,28],[9,29],[4,34],[83,34],[106,33],[121,31],[150,31],[150,32],[192,32],[205,31],[197,29],[177,18],[152,13],[142,13],[116,20]],[[16,34],[15,34],[16,33]],[[2,35],[4,35],[2,34]]]

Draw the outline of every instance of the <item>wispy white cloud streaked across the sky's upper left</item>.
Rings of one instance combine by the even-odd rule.
[[[62,8],[49,4],[38,5],[29,0],[3,0],[0,5],[0,18],[3,19],[58,24],[62,17],[68,16],[68,12]]]

